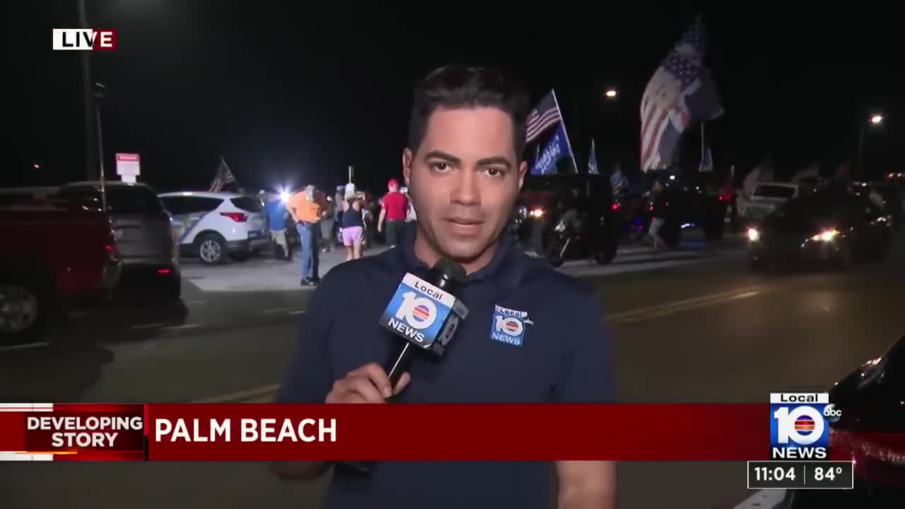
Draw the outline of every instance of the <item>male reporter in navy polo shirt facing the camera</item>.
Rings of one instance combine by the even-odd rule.
[[[418,85],[403,152],[418,221],[403,228],[395,248],[340,264],[324,277],[276,401],[380,405],[392,395],[394,404],[614,400],[598,296],[586,283],[524,255],[503,233],[527,170],[529,106],[527,92],[491,69],[445,67]],[[402,340],[377,321],[405,273],[427,277],[441,258],[467,273],[459,295],[468,318],[441,360],[415,359],[390,387],[379,363]],[[519,317],[518,334],[500,332],[500,313]],[[413,440],[419,439],[415,433]],[[431,439],[443,437],[424,439],[424,447]],[[310,479],[329,464],[272,467],[283,478]],[[337,464],[325,505],[540,509],[557,495],[563,509],[611,508],[614,472],[607,461],[379,462],[370,475]]]

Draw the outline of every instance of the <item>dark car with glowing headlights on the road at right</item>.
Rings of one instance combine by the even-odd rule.
[[[827,188],[796,197],[748,228],[748,264],[818,263],[846,269],[881,259],[890,248],[891,217],[871,200]]]

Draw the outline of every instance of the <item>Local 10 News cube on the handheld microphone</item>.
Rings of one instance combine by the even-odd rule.
[[[424,350],[443,355],[468,309],[452,293],[405,274],[380,324]]]

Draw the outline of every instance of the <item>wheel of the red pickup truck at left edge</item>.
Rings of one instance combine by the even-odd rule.
[[[19,344],[41,337],[49,322],[51,298],[40,284],[0,282],[0,343]]]

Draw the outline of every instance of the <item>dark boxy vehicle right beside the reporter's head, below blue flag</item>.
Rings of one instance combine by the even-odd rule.
[[[554,266],[580,258],[608,264],[624,234],[609,178],[587,174],[526,177],[510,229],[529,255]]]

